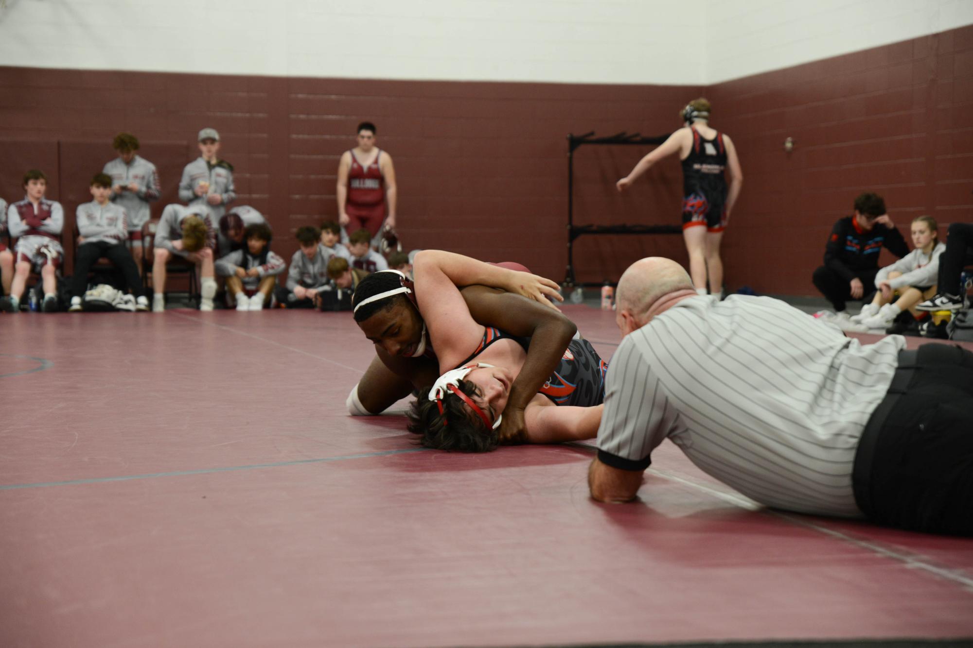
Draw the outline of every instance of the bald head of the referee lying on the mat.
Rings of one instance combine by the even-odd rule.
[[[689,273],[671,258],[647,256],[629,266],[616,293],[619,325],[626,314],[636,328],[648,324],[668,295],[696,293]],[[623,333],[626,332],[623,327]]]

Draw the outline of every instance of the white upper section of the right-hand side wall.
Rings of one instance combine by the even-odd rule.
[[[973,23],[973,0],[706,0],[706,85]]]

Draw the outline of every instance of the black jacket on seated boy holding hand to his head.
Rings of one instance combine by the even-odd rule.
[[[859,272],[879,267],[879,253],[883,246],[900,258],[909,254],[909,246],[895,227],[876,224],[865,231],[853,216],[847,216],[836,222],[831,230],[824,249],[824,265],[850,282]]]

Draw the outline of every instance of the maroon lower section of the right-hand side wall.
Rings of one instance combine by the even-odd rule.
[[[973,222],[973,26],[706,91],[743,166],[725,236],[731,287],[813,294],[831,225],[864,190],[883,195],[910,247],[922,214]]]

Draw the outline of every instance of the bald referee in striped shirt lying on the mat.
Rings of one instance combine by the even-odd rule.
[[[666,258],[632,264],[617,298],[598,501],[631,501],[669,438],[767,506],[973,535],[973,353],[862,346],[770,297],[716,302]]]

